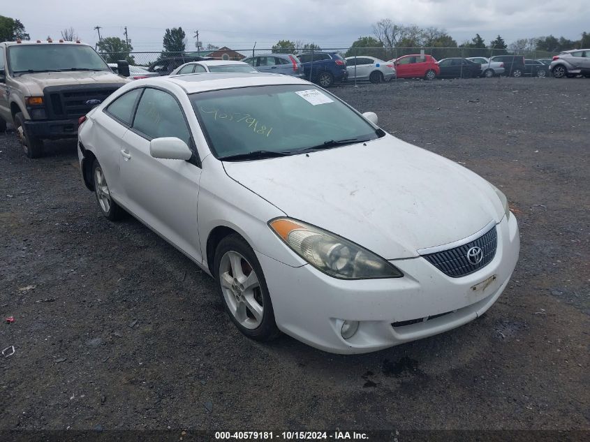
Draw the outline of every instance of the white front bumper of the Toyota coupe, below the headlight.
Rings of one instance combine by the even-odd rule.
[[[494,259],[460,278],[422,257],[392,261],[402,278],[346,281],[311,265],[293,268],[257,256],[280,330],[330,353],[367,353],[451,330],[487,311],[506,288],[520,249],[514,215],[496,228]],[[341,337],[343,320],[360,321],[351,339]]]

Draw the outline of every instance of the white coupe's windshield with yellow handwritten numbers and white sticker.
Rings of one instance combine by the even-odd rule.
[[[253,152],[297,154],[385,134],[311,84],[243,87],[189,97],[219,159]]]

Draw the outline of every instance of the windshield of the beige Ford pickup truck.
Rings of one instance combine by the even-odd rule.
[[[109,71],[94,49],[86,45],[40,44],[8,47],[12,73],[47,71]]]

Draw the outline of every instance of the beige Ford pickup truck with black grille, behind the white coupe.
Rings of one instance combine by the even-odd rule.
[[[75,138],[78,118],[131,81],[119,65],[123,75],[79,41],[0,43],[0,131],[13,123],[29,158],[43,154],[44,139]]]

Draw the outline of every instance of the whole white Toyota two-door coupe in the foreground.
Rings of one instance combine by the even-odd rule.
[[[468,323],[517,263],[506,197],[314,84],[126,84],[80,119],[84,183],[219,284],[246,336],[364,353]]]

